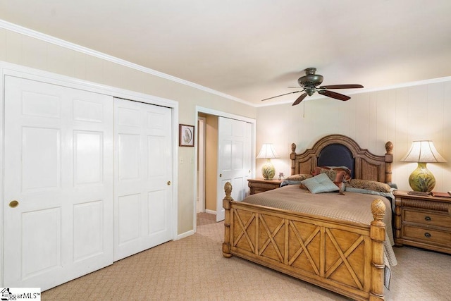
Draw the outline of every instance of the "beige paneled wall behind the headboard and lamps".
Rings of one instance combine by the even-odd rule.
[[[323,135],[343,134],[374,154],[385,154],[385,142],[394,144],[393,182],[402,190],[416,163],[401,162],[412,140],[433,140],[444,164],[428,164],[436,179],[435,191],[451,190],[451,80],[353,94],[347,102],[309,99],[305,104],[257,109],[257,149],[272,142],[279,159],[271,159],[276,174],[290,175],[291,143],[296,152],[312,147]],[[305,111],[304,111],[305,109]],[[280,117],[278,117],[280,116]],[[257,174],[264,159],[257,159]]]

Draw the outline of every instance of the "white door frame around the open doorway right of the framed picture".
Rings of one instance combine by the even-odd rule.
[[[197,118],[199,116],[199,113],[205,113],[205,114],[209,114],[209,115],[214,115],[214,116],[218,116],[218,117],[225,117],[225,118],[231,118],[231,119],[236,119],[238,121],[245,121],[248,123],[252,124],[252,137],[251,137],[251,174],[250,174],[250,178],[254,178],[255,175],[255,147],[256,147],[256,142],[257,142],[257,120],[254,118],[249,118],[249,117],[245,117],[245,116],[240,116],[240,115],[235,115],[232,113],[226,113],[223,111],[218,111],[218,110],[214,110],[214,109],[209,109],[209,108],[205,108],[203,106],[196,106],[196,110],[195,110],[195,120],[197,121]],[[199,141],[197,140],[197,130],[194,131],[195,132],[195,136],[194,136],[194,141]],[[197,144],[194,145],[194,154],[197,154],[198,149],[197,149]],[[197,187],[197,155],[194,156],[194,166],[196,166],[194,169],[194,187]],[[220,191],[218,191],[217,193],[221,193]],[[225,196],[225,195],[224,195]],[[194,229],[194,233],[197,232],[197,212],[196,212],[196,199],[197,199],[197,189],[194,189],[194,197],[193,197],[193,229]]]

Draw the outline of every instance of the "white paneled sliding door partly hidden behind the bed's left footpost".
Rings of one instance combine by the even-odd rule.
[[[249,188],[247,179],[251,173],[252,124],[245,121],[218,117],[218,187],[216,193],[216,221],[225,216],[224,185],[232,184],[232,197],[241,201]]]

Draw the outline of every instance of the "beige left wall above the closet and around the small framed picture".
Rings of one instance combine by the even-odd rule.
[[[0,61],[175,100],[178,123],[197,124],[196,106],[248,118],[257,113],[252,106],[4,28],[0,28]],[[183,234],[193,229],[195,154],[194,147],[178,151],[178,161],[184,162],[178,168],[178,233]]]

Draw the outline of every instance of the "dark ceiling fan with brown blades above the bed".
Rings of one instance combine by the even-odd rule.
[[[327,97],[332,97],[335,99],[340,99],[340,100],[345,101],[345,100],[350,99],[351,97],[344,95],[344,94],[337,93],[337,92],[329,91],[329,89],[354,89],[354,88],[363,88],[364,87],[362,85],[354,85],[354,84],[328,85],[328,86],[316,87],[318,85],[321,85],[321,82],[323,82],[323,75],[315,74],[316,68],[307,68],[304,70],[304,72],[305,72],[305,75],[297,79],[297,82],[299,83],[299,86],[302,87],[302,90],[295,91],[295,92],[289,92],[289,93],[285,93],[285,94],[280,94],[280,95],[269,97],[266,99],[261,99],[261,101],[263,102],[264,100],[273,99],[273,98],[280,97],[283,95],[299,93],[299,92],[304,92],[304,91],[305,92],[301,96],[299,96],[295,100],[295,102],[293,102],[292,106],[300,104],[300,102],[302,102],[302,100],[304,100],[304,98],[307,97],[307,95],[311,96],[314,94],[314,92],[318,92],[319,94],[322,94]]]

